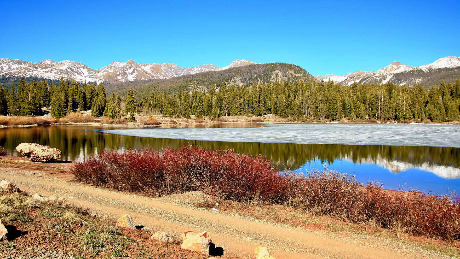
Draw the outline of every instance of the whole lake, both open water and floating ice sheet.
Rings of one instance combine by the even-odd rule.
[[[329,169],[380,181],[385,188],[460,191],[460,125],[198,124],[155,128],[37,126],[0,129],[0,145],[36,142],[78,161],[105,150],[151,147],[231,148],[262,155],[280,169]]]

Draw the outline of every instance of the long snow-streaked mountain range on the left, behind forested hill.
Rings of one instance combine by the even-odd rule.
[[[33,63],[19,59],[0,59],[0,76],[43,77],[49,79],[63,77],[64,79],[78,82],[85,80],[86,82],[128,82],[146,79],[167,79],[251,64],[259,63],[236,59],[223,68],[212,64],[182,68],[176,64],[142,64],[129,59],[127,62],[117,61],[101,69],[92,69],[79,62],[69,60],[56,62],[51,59],[45,59],[39,63]]]

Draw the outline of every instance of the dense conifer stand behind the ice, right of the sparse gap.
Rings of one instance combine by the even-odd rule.
[[[211,118],[225,115],[275,114],[283,118],[311,119],[416,119],[459,120],[460,79],[441,82],[426,90],[419,84],[335,84],[298,81],[253,83],[251,87],[225,83],[215,91],[193,90],[191,94],[164,92],[142,94],[140,106],[158,114]]]

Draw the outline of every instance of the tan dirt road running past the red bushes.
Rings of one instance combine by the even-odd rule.
[[[5,179],[32,194],[59,194],[75,205],[108,217],[129,213],[136,225],[164,230],[180,237],[187,231],[208,231],[225,253],[254,258],[254,247],[268,246],[277,259],[402,259],[449,258],[419,247],[351,233],[320,233],[242,216],[233,216],[185,203],[178,194],[162,198],[126,194],[73,182],[62,169],[31,163],[0,163]]]

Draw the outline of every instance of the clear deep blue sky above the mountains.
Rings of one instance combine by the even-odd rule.
[[[460,1],[0,1],[0,58],[182,67],[235,59],[313,75],[460,56]]]

